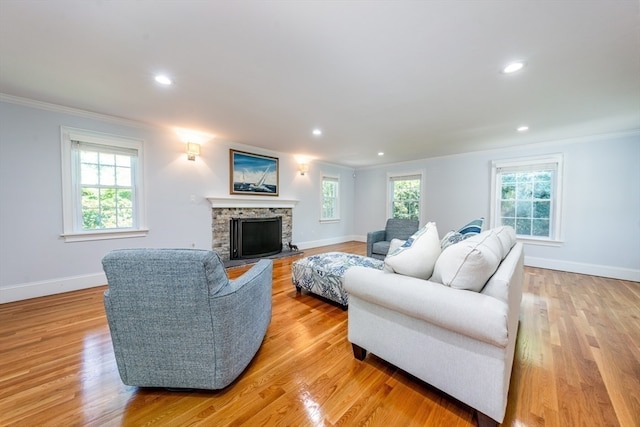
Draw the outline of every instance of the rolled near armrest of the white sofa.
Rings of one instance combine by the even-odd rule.
[[[343,284],[349,298],[359,298],[497,347],[508,343],[508,306],[488,295],[366,267],[347,270]]]

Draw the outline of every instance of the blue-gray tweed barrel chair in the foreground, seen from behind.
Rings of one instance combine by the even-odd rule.
[[[216,252],[121,249],[102,259],[104,306],[122,382],[222,389],[249,365],[271,321],[273,261],[229,280]]]

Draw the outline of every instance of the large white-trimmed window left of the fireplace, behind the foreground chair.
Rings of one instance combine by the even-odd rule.
[[[63,127],[65,241],[146,235],[142,141]]]

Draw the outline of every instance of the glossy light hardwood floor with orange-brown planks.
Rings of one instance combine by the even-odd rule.
[[[304,255],[333,250],[365,248]],[[375,355],[354,359],[348,313],[296,294],[293,260],[274,263],[261,349],[216,392],[123,385],[105,287],[1,305],[0,425],[473,425],[470,408]],[[526,268],[520,319],[503,425],[640,426],[640,283]]]

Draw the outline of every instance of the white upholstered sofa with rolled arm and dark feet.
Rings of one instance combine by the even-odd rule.
[[[500,251],[495,249],[498,234],[507,235],[500,261],[494,272],[478,274],[490,278],[483,279],[479,291],[456,289],[452,275],[472,277],[473,269],[482,270],[492,252]],[[484,245],[490,240],[493,246]],[[482,265],[470,261],[474,256]],[[354,356],[363,360],[371,352],[477,410],[480,425],[501,423],[518,331],[523,259],[513,230],[501,227],[446,248],[430,280],[352,267],[344,286]]]

